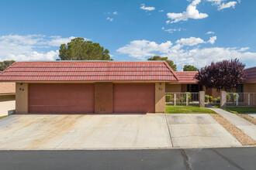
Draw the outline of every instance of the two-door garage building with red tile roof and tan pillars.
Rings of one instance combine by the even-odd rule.
[[[163,113],[178,76],[164,61],[17,62],[0,81],[16,82],[16,113]]]

